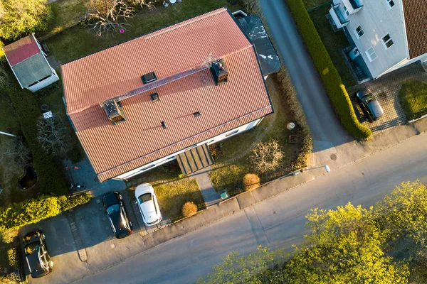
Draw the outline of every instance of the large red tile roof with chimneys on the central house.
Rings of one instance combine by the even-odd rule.
[[[224,58],[228,82],[209,69],[121,101],[126,121],[112,125],[100,102]],[[67,111],[103,181],[273,112],[253,45],[227,9],[211,11],[62,65]],[[193,113],[201,112],[194,117]],[[164,121],[167,129],[160,124]]]

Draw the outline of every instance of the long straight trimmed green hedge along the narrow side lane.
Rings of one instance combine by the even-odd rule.
[[[347,90],[344,84],[342,84],[341,77],[339,77],[338,71],[332,63],[330,55],[327,53],[315,25],[305,10],[302,0],[288,0],[286,4],[292,13],[302,38],[305,40],[305,45],[307,45],[312,60],[315,62],[317,72],[319,72],[322,78],[334,109],[339,116],[339,120],[344,125],[345,129],[355,138],[370,138],[372,132],[369,128],[360,124],[356,114],[354,114],[349,94],[347,94]]]

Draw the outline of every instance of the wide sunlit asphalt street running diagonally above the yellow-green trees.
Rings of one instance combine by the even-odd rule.
[[[349,164],[219,222],[128,258],[78,283],[195,283],[230,251],[259,244],[291,249],[307,233],[310,209],[369,206],[406,180],[427,183],[427,133]]]

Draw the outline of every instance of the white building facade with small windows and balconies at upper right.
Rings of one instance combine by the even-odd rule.
[[[368,80],[427,60],[427,53],[410,56],[406,33],[408,16],[405,17],[403,1],[406,0],[332,1],[329,11],[332,23],[342,28],[353,45],[346,55],[350,61],[362,65]]]

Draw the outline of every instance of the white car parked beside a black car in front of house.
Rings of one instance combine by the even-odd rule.
[[[146,226],[154,226],[162,221],[157,197],[154,188],[149,183],[138,185],[135,189],[135,198]]]

